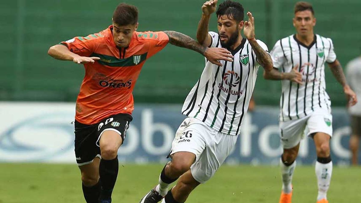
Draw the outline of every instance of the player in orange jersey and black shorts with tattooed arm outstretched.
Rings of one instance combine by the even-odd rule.
[[[75,114],[75,156],[87,203],[110,203],[118,174],[118,148],[134,109],[132,90],[149,57],[170,43],[197,51],[217,65],[232,61],[224,48],[207,48],[175,31],[137,32],[138,10],[119,4],[107,29],[49,48],[58,60],[84,64]]]

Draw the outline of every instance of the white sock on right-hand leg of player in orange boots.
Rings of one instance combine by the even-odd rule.
[[[331,182],[332,161],[327,164],[316,161],[315,171],[318,185],[317,201],[320,199],[327,199],[327,190],[329,190]]]

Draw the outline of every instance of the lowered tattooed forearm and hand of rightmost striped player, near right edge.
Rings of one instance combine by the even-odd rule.
[[[342,66],[340,62],[336,59],[332,63],[328,63],[331,69],[332,74],[335,76],[336,80],[342,85],[343,91],[346,95],[348,101],[348,106],[353,106],[357,103],[357,97],[355,92],[352,91],[351,87],[347,85],[345,74],[343,73]]]

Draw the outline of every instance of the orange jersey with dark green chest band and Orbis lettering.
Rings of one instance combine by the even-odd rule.
[[[142,66],[169,41],[164,32],[134,32],[127,48],[118,48],[113,40],[113,26],[100,33],[61,42],[80,56],[96,56],[94,64],[84,64],[85,76],[77,98],[75,119],[95,124],[118,113],[131,114],[132,91]]]

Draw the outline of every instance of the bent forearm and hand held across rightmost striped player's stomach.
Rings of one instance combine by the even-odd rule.
[[[273,68],[270,71],[264,71],[263,77],[269,80],[290,80],[295,83],[299,83],[303,85],[302,82],[302,74],[297,70],[298,65],[292,68],[291,72],[289,73],[282,73],[279,72],[277,68]]]

